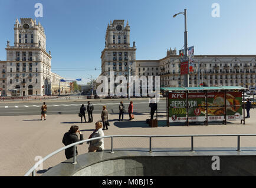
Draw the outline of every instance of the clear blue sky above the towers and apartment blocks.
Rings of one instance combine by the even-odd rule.
[[[101,67],[106,27],[114,19],[129,21],[136,59],[161,59],[168,48],[182,49],[184,18],[172,15],[185,8],[195,55],[256,54],[255,0],[0,0],[0,60],[6,60],[6,41],[14,45],[15,19],[34,19],[38,2],[44,12],[36,19],[45,28],[52,72],[65,78],[97,78],[100,70],[81,69]],[[212,17],[214,3],[220,5],[220,18]],[[80,70],[58,70],[64,68]]]

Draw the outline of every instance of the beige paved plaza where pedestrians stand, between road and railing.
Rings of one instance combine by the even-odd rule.
[[[165,126],[165,113],[159,113],[159,127],[149,127],[146,119],[148,113],[135,113],[135,119],[119,122],[118,114],[109,112],[110,127],[104,130],[107,135],[192,135],[192,134],[256,134],[256,110],[251,109],[251,118],[245,125],[240,121],[227,125],[191,125]],[[40,121],[40,115],[1,116],[0,132],[0,176],[23,176],[36,162],[36,156],[45,157],[63,147],[62,139],[71,125],[78,125],[87,139],[94,129],[94,123],[80,123],[78,115],[47,115],[47,120]],[[94,115],[94,122],[100,120],[100,114]],[[104,140],[105,149],[110,149],[110,139]],[[153,138],[152,147],[190,147],[189,137]],[[236,147],[237,137],[196,137],[194,147]],[[241,147],[255,147],[256,136],[241,137]],[[114,148],[149,147],[148,138],[123,137],[114,138]],[[78,145],[78,153],[87,153],[88,145]],[[44,170],[65,160],[64,151],[46,160]]]

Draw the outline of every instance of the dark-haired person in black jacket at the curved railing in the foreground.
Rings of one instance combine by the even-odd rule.
[[[70,127],[70,130],[68,130],[67,133],[64,134],[62,143],[67,146],[71,145],[71,143],[79,142],[84,139],[84,136],[81,134],[80,130],[78,130],[79,127],[76,125],[73,125]],[[78,136],[76,133],[79,133],[80,135],[80,140],[78,139]],[[80,145],[82,145],[81,143]],[[76,146],[76,156],[77,156],[77,146]],[[67,149],[65,149],[65,156],[67,159],[70,159],[74,157],[74,146],[71,146]]]

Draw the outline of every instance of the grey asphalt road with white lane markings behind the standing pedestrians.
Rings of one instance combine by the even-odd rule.
[[[122,100],[128,111],[129,100]],[[55,114],[77,114],[83,102],[47,102],[47,115]],[[102,106],[106,105],[109,113],[119,113],[119,101],[100,100],[92,102],[94,105],[94,113],[101,113]],[[87,103],[84,102],[87,106]],[[0,116],[27,116],[40,115],[42,102],[38,103],[0,103]],[[150,113],[148,100],[136,100],[133,102],[134,113]],[[160,100],[158,112],[166,112],[165,100]],[[86,112],[87,113],[87,112]]]

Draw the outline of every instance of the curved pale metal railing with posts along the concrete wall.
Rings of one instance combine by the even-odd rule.
[[[152,152],[152,137],[191,137],[191,152],[194,152],[193,150],[193,138],[194,137],[216,137],[216,136],[237,136],[237,151],[241,152],[240,150],[240,137],[241,136],[256,136],[256,134],[242,134],[242,135],[111,135],[111,136],[101,136],[101,137],[94,137],[93,139],[87,139],[87,140],[81,140],[76,143],[72,143],[71,145],[67,145],[65,147],[61,147],[60,149],[56,150],[55,152],[50,153],[49,155],[45,156],[43,159],[39,160],[35,165],[28,170],[28,172],[24,176],[29,176],[29,174],[32,173],[32,176],[35,176],[35,169],[43,163],[48,158],[54,156],[55,154],[74,146],[74,157],[73,157],[73,163],[76,164],[76,145],[79,145],[84,142],[89,142],[91,140],[98,140],[98,139],[104,139],[111,137],[111,153],[114,153],[113,148],[113,137],[149,137],[149,152]]]

